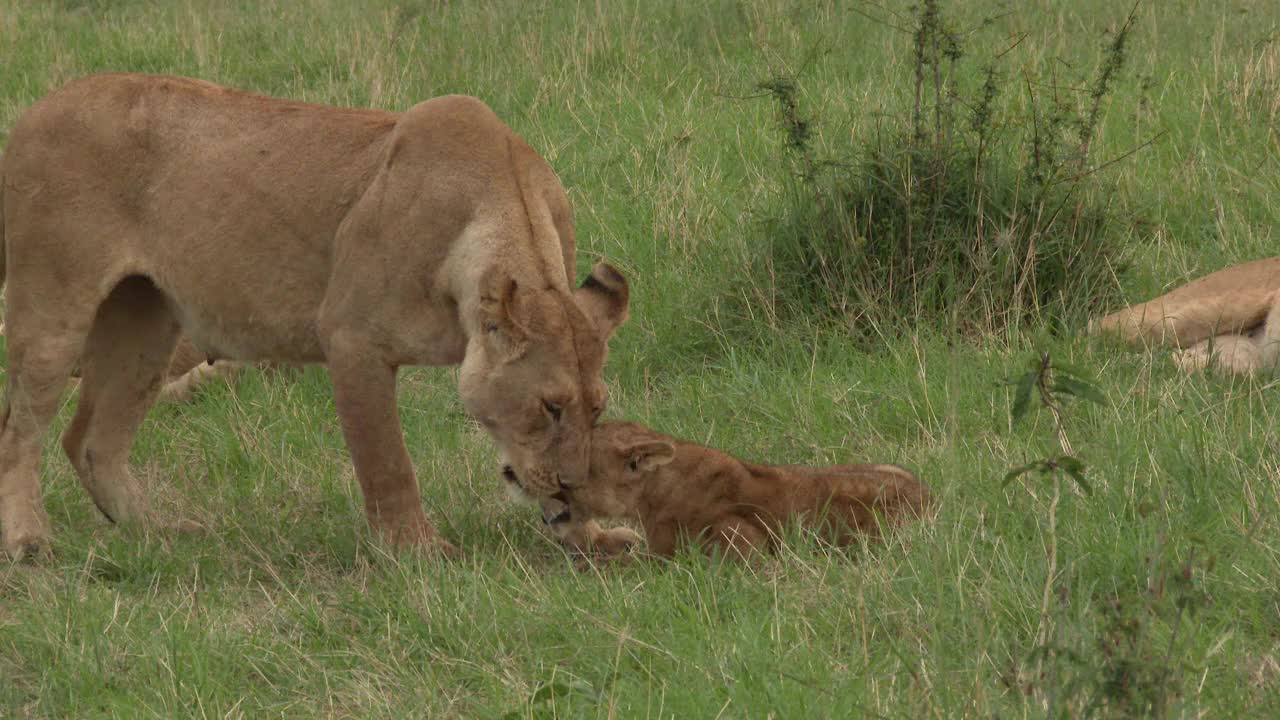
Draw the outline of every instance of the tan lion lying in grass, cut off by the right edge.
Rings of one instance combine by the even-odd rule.
[[[1251,374],[1280,363],[1280,258],[1211,273],[1112,313],[1094,329],[1134,347],[1175,347],[1178,366]]]

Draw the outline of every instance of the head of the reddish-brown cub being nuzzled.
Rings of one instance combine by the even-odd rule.
[[[573,518],[628,518],[645,482],[676,457],[666,437],[636,423],[602,423],[591,434],[586,482],[564,488]]]

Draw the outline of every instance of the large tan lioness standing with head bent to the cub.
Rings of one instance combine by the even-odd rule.
[[[420,503],[399,365],[461,363],[463,406],[531,495],[586,475],[626,281],[599,264],[571,288],[559,181],[474,97],[387,113],[93,76],[18,119],[0,188],[9,553],[49,537],[41,437],[77,360],[63,447],[108,518],[146,514],[129,446],[179,329],[214,359],[325,363],[365,512],[392,542],[449,547]]]

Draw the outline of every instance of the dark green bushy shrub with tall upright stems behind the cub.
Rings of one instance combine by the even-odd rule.
[[[925,0],[905,127],[881,127],[837,159],[818,156],[796,78],[762,82],[790,160],[783,197],[764,214],[762,297],[854,329],[992,332],[1100,309],[1117,290],[1128,223],[1089,147],[1133,17],[1084,91],[1056,77],[1037,90],[1024,76],[1015,106],[997,104],[1012,85],[1000,56],[968,61],[961,33]]]

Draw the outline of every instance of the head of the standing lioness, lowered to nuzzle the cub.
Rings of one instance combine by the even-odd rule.
[[[608,340],[630,291],[600,263],[572,296],[494,273],[480,293],[480,332],[458,378],[467,413],[493,436],[503,474],[532,498],[586,477],[591,425],[604,409]]]

